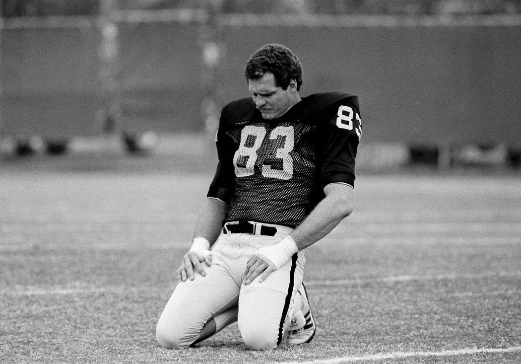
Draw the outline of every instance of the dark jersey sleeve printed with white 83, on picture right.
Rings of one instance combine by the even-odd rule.
[[[356,97],[335,103],[325,112],[322,134],[321,184],[345,183],[354,188],[355,157],[362,136]]]

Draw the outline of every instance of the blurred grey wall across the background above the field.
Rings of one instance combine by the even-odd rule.
[[[0,137],[215,130],[219,108],[249,96],[249,55],[278,42],[303,62],[303,95],[359,95],[365,141],[519,143],[520,9],[520,1],[4,0]]]

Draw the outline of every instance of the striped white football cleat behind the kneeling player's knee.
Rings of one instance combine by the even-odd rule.
[[[301,296],[300,310],[297,311],[291,318],[290,327],[288,329],[287,342],[291,345],[304,344],[312,341],[315,336],[317,326],[309,307],[309,300],[307,299],[306,287],[302,284],[298,293]]]

